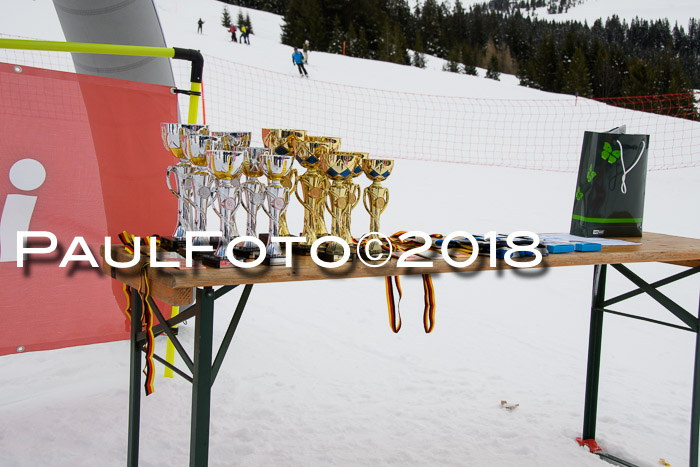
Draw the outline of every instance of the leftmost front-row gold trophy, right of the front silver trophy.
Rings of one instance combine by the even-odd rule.
[[[340,138],[331,136],[307,136],[304,141],[296,141],[294,149],[297,161],[306,168],[306,172],[297,179],[294,194],[304,207],[304,231],[306,242],[294,244],[294,251],[309,254],[311,245],[317,238],[328,235],[326,230],[325,199],[330,182],[321,172],[321,159],[324,155],[340,149]],[[298,188],[302,195],[299,196]]]

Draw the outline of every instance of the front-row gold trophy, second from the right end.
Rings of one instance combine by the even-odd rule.
[[[348,238],[345,226],[349,221],[345,216],[349,215],[351,188],[346,183],[349,177],[362,160],[362,156],[354,152],[332,152],[321,158],[321,169],[326,176],[332,180],[328,196],[326,197],[326,209],[333,218],[331,222],[331,235],[340,237],[343,240]],[[328,204],[330,201],[330,204]],[[347,240],[346,240],[347,241]],[[324,259],[336,261],[343,256],[343,246],[338,242],[329,242],[326,246]],[[352,258],[352,251],[350,252]]]

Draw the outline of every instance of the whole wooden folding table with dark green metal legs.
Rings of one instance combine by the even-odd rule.
[[[700,239],[675,237],[671,235],[645,233],[640,238],[623,238],[640,245],[603,247],[600,252],[568,253],[549,255],[542,259],[536,268],[560,266],[594,266],[593,300],[591,304],[591,325],[589,330],[588,369],[586,377],[586,396],[584,408],[583,434],[580,442],[591,447],[592,451],[599,449],[595,444],[595,428],[598,403],[598,383],[600,374],[601,339],[603,330],[603,314],[613,313],[630,318],[641,319],[655,324],[670,326],[696,333],[695,373],[693,379],[691,437],[690,437],[690,466],[698,467],[698,448],[700,441],[700,310],[697,314],[683,309],[670,298],[661,293],[658,288],[700,272]],[[104,248],[102,249],[104,256]],[[132,258],[122,246],[112,246],[112,258],[124,262]],[[114,279],[132,287],[132,326],[131,326],[131,381],[129,390],[129,448],[128,465],[138,465],[139,449],[139,420],[140,420],[140,391],[141,391],[141,352],[144,351],[145,332],[141,329],[143,313],[139,300],[138,287],[142,275],[142,265],[147,257],[142,256],[141,263],[128,269],[112,268],[103,262],[103,271]],[[530,261],[531,258],[516,261]],[[661,262],[684,267],[681,272],[656,281],[647,283],[629,270],[624,264]],[[612,267],[637,286],[637,289],[614,298],[605,298],[607,265]],[[460,273],[466,271],[487,271],[494,269],[513,269],[503,260],[498,260],[497,266],[489,266],[488,256],[479,256],[477,261],[465,268],[455,268],[442,259],[433,260],[432,267],[402,267],[396,266],[392,259],[381,267],[370,267],[360,261],[352,261],[336,268],[326,269],[316,265],[310,257],[294,256],[291,267],[260,265],[251,269],[187,269],[148,268],[150,285],[150,303],[160,321],[154,326],[155,335],[166,334],[173,342],[186,370],[176,368],[164,359],[156,359],[173,369],[174,372],[192,382],[192,426],[190,437],[190,465],[204,466],[208,463],[209,451],[209,415],[211,387],[226,355],[226,351],[234,336],[241,314],[245,308],[248,296],[254,284],[292,282],[305,280],[345,279],[353,277],[380,277],[407,274],[439,274]],[[231,322],[219,347],[213,357],[213,311],[214,302],[235,287],[244,285]],[[214,290],[214,287],[218,289]],[[622,302],[640,294],[646,294],[656,300],[663,308],[681,320],[684,325],[670,324],[664,321],[642,318],[611,310],[613,304]],[[165,320],[158,310],[153,298],[169,305],[188,306],[176,317]],[[193,356],[190,358],[183,346],[173,334],[172,326],[189,318],[195,319],[195,340]],[[601,457],[621,465],[631,465],[624,460],[598,451]]]

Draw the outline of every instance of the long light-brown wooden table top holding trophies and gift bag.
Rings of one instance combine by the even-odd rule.
[[[640,242],[641,244],[604,246],[602,251],[598,252],[551,254],[543,257],[535,268],[644,262],[664,262],[690,267],[700,265],[700,239],[646,232],[641,238],[620,238],[620,240]],[[104,257],[104,246],[101,249],[101,254]],[[124,262],[131,259],[132,256],[122,246],[113,245],[112,258]],[[146,255],[142,255],[142,261],[147,260],[147,258]],[[460,258],[455,259],[461,260]],[[524,262],[531,260],[532,258],[516,259],[516,261]],[[399,268],[396,266],[396,261],[396,258],[392,258],[384,266],[370,267],[355,259],[339,268],[328,269],[316,265],[311,257],[294,255],[291,267],[261,264],[250,269],[149,268],[149,281],[151,294],[154,297],[171,305],[184,305],[192,302],[193,287],[514,269],[503,260],[498,260],[497,266],[492,268],[489,266],[488,256],[479,256],[474,263],[465,268],[450,266],[441,257],[432,260],[432,267]],[[103,262],[102,269],[106,274],[120,282],[138,286],[140,266],[116,269]]]

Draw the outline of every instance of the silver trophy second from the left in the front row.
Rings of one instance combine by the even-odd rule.
[[[192,180],[192,203],[195,210],[192,227],[195,232],[207,230],[207,210],[212,199],[214,177],[208,170],[206,153],[209,150],[217,149],[217,141],[218,138],[197,133],[182,135],[181,139],[183,152],[192,164],[190,179]],[[210,240],[195,237],[192,244],[209,245]]]

